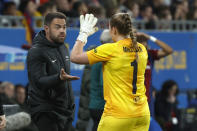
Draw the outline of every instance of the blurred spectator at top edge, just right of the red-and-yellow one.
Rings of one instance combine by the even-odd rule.
[[[38,11],[42,14],[42,16],[46,16],[48,13],[57,12],[57,5],[54,2],[49,1],[39,6]]]

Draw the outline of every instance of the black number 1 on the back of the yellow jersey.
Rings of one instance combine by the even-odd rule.
[[[131,66],[133,66],[133,94],[136,94],[137,92],[137,61],[134,60],[133,62],[131,62]]]

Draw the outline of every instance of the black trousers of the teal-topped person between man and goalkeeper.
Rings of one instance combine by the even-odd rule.
[[[103,110],[98,109],[90,109],[90,115],[93,119],[94,125],[92,127],[92,131],[97,131],[98,124],[100,122],[101,116],[103,114]]]

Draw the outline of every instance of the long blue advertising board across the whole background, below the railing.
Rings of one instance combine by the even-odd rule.
[[[39,31],[39,30],[37,30]],[[70,50],[78,36],[78,29],[68,29],[65,42],[69,43]],[[90,38],[85,49],[89,45],[100,45],[99,37],[102,31],[98,31]],[[177,81],[180,89],[196,88],[197,62],[197,33],[195,32],[147,32],[169,44],[174,53],[164,59],[155,62],[153,71],[153,85],[160,89],[162,83],[167,79]],[[17,57],[24,55],[26,51],[20,49],[26,43],[25,31],[23,29],[0,29],[0,81],[11,81],[13,83],[27,83],[25,59],[17,61]],[[149,42],[150,48],[157,49],[158,46]],[[4,47],[3,47],[4,46]],[[7,46],[7,47],[6,47]],[[6,59],[5,59],[6,56]],[[24,57],[24,56],[23,56]],[[25,57],[24,57],[25,58]],[[14,60],[14,61],[12,61]],[[21,64],[23,62],[23,64]],[[84,65],[71,63],[71,73],[81,77]],[[24,70],[23,70],[24,69]],[[73,89],[80,90],[80,80],[72,82]]]

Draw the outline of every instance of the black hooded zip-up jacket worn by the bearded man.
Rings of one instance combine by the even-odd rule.
[[[27,55],[28,105],[32,116],[52,112],[60,120],[73,117],[73,92],[69,81],[60,80],[61,68],[70,74],[68,48],[48,41],[45,31],[40,31]]]

